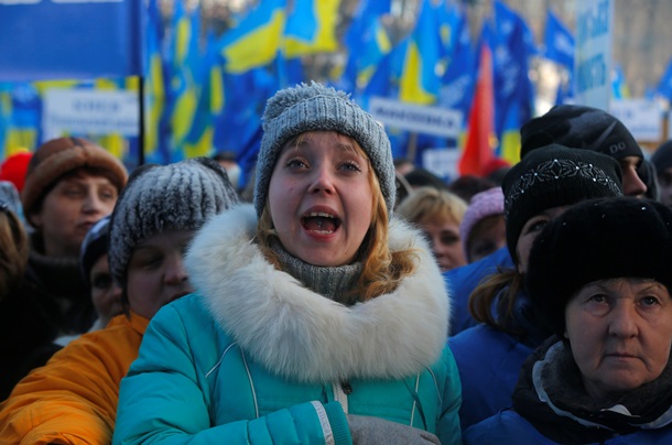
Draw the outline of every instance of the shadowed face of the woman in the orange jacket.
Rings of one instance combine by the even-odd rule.
[[[189,230],[165,230],[136,246],[126,283],[131,311],[151,318],[163,305],[194,291],[183,262],[191,238]]]

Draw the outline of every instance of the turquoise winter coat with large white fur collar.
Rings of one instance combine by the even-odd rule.
[[[445,348],[448,299],[416,231],[419,270],[347,307],[274,269],[251,241],[251,206],[197,235],[198,293],[163,307],[121,383],[115,443],[351,442],[345,414],[383,417],[459,443],[459,379]]]

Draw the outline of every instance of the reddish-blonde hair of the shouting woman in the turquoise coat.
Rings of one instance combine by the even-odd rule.
[[[284,146],[299,144],[310,137],[311,132],[301,133],[299,137],[288,141]],[[335,133],[335,138],[347,138],[348,141],[351,142],[355,152],[367,160],[369,185],[373,191],[371,224],[369,226],[369,231],[359,247],[356,259],[357,261],[362,262],[362,271],[357,282],[357,286],[350,295],[353,301],[366,301],[394,291],[404,278],[412,275],[415,272],[419,257],[414,249],[390,251],[388,243],[388,208],[386,206],[384,197],[382,196],[378,176],[376,176],[369,156],[355,139],[339,133]],[[267,197],[261,217],[257,225],[256,241],[268,261],[270,261],[275,269],[280,270],[281,265],[278,261],[278,257],[270,248],[271,239],[273,238],[278,239],[278,234],[273,228],[273,220],[269,210],[269,200]]]

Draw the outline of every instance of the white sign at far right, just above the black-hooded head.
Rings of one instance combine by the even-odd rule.
[[[609,112],[624,122],[638,141],[660,142],[663,138],[662,112],[654,100],[613,100]]]

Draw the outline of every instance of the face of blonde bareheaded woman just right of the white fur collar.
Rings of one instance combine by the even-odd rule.
[[[426,218],[421,220],[419,226],[430,240],[432,253],[442,272],[467,263],[459,238],[458,223],[443,218]]]

